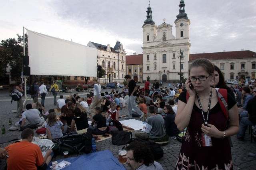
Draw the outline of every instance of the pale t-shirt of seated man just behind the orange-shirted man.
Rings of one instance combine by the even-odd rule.
[[[22,113],[22,119],[26,119],[32,125],[37,125],[41,122],[40,111],[37,109],[26,110]]]

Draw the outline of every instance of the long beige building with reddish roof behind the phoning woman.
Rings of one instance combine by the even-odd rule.
[[[189,62],[198,58],[207,58],[220,68],[225,80],[228,79],[255,79],[256,53],[253,51],[227,51],[217,53],[190,54]],[[187,77],[185,77],[187,78]]]

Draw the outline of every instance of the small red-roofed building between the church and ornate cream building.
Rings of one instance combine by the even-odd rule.
[[[143,56],[142,54],[126,55],[126,74],[136,82],[143,80]]]

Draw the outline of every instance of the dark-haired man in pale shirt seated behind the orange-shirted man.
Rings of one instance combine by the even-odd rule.
[[[40,111],[37,109],[32,109],[32,104],[28,103],[26,105],[26,111],[22,113],[22,122],[20,127],[25,127],[27,125],[41,126],[44,123],[44,118],[40,117]]]

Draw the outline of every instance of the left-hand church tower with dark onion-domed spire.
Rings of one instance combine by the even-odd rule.
[[[156,25],[152,19],[152,10],[150,1],[148,1],[147,19],[144,21],[143,28],[143,43],[154,42],[156,38]]]

